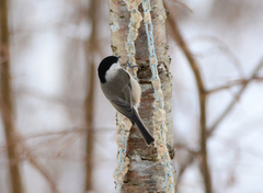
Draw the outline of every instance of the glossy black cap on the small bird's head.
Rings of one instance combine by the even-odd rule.
[[[119,58],[121,57],[116,57],[116,56],[107,56],[101,61],[101,64],[98,68],[98,75],[99,75],[101,83],[106,82],[106,79],[105,79],[106,71],[111,68],[111,66],[114,63],[117,63]]]

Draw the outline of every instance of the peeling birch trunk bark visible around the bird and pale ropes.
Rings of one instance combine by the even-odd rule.
[[[161,80],[161,89],[164,96],[164,110],[167,113],[167,146],[171,160],[174,157],[173,124],[172,124],[172,76],[170,73],[170,57],[167,53],[165,18],[167,13],[162,0],[151,0],[151,18],[153,23],[153,35],[156,55],[158,57],[158,71]],[[129,12],[123,0],[110,0],[110,25],[112,30],[112,49],[114,55],[122,56],[122,64],[127,58],[126,42],[128,35]],[[141,5],[139,7],[141,11]],[[147,34],[144,21],[140,23],[138,37],[135,42],[136,61],[139,65],[137,72],[141,87],[141,103],[139,114],[145,124],[153,134],[153,101],[155,93],[151,84],[151,69],[149,66],[149,54]],[[128,172],[122,186],[122,192],[167,192],[164,167],[158,159],[156,147],[147,147],[139,132],[130,129],[127,157],[129,158]]]

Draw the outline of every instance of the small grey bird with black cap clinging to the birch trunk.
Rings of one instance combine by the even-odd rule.
[[[137,111],[141,95],[140,86],[119,66],[118,59],[119,57],[108,56],[101,61],[98,68],[101,89],[112,105],[138,127],[146,144],[150,145],[155,138],[148,132]]]

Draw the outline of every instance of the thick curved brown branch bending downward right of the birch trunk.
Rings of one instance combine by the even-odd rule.
[[[179,46],[183,50],[188,64],[194,72],[199,99],[199,126],[201,126],[201,155],[202,155],[202,174],[205,181],[206,193],[211,193],[211,179],[210,171],[207,163],[207,140],[206,140],[206,90],[202,79],[201,70],[197,61],[194,59],[193,54],[190,52],[185,41],[183,39],[181,32],[178,27],[176,21],[172,16],[168,18],[168,23],[173,32],[173,38],[178,42]]]

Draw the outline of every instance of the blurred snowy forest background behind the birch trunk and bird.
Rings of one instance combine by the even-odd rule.
[[[164,3],[176,192],[205,190],[199,116],[206,118],[213,192],[263,192],[263,1]],[[1,37],[9,35],[9,45],[4,38],[0,45],[0,192],[115,192],[115,110],[96,78],[99,63],[112,54],[107,1],[0,5]]]

